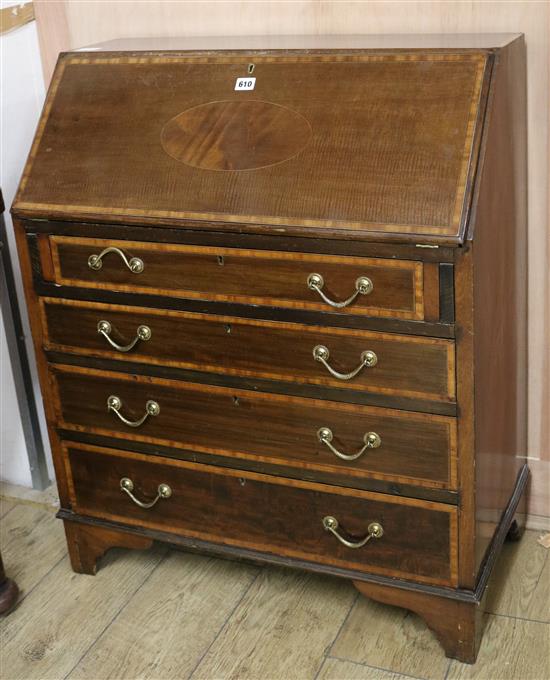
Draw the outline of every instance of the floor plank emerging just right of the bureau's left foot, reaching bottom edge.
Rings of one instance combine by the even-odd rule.
[[[187,678],[258,573],[257,567],[172,552],[70,677]]]

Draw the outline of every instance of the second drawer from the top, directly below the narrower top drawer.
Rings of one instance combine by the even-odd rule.
[[[455,397],[450,340],[53,298],[41,306],[49,350],[434,401]],[[129,351],[112,346],[131,345],[143,326],[149,339]]]

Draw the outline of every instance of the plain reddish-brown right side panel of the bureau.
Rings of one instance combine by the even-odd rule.
[[[475,567],[527,455],[525,44],[497,54],[473,225]]]

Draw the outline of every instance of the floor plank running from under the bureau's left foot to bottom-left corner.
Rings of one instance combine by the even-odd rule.
[[[58,562],[2,621],[2,677],[64,678],[165,552],[111,550],[96,576],[75,574],[68,557]]]

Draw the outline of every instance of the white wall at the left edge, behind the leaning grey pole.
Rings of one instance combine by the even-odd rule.
[[[1,7],[14,2],[1,1]],[[15,242],[9,207],[13,201],[19,177],[23,171],[34,130],[44,102],[44,80],[38,49],[36,24],[32,22],[0,36],[0,104],[1,104],[1,153],[0,185],[6,204],[6,227],[9,248],[17,279],[19,300],[23,300],[21,277],[16,258]],[[27,335],[27,346],[33,357],[30,331],[23,309],[23,324]],[[34,361],[31,369],[35,371]],[[36,375],[35,392],[39,394]],[[39,397],[38,397],[39,398]],[[39,402],[40,417],[42,417]],[[44,426],[44,423],[42,423]],[[45,431],[45,428],[42,428]],[[47,446],[47,438],[44,437]],[[49,455],[49,451],[48,451]],[[53,471],[50,466],[50,477]],[[14,484],[31,486],[31,475],[21,419],[17,406],[15,387],[6,344],[4,322],[0,317],[0,479]]]

